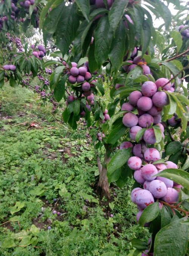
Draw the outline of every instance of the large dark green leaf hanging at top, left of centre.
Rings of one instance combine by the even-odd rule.
[[[56,43],[62,55],[64,55],[74,40],[77,28],[79,27],[79,16],[75,3],[64,6],[57,27],[58,29],[55,33]]]

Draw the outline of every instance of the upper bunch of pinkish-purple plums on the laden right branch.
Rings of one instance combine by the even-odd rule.
[[[156,82],[144,82],[141,92],[133,91],[129,95],[129,102],[122,104],[122,111],[138,110],[138,115],[132,112],[124,114],[123,124],[130,128],[130,139],[136,141],[136,134],[142,128],[147,128],[144,132],[144,141],[147,144],[155,144],[156,138],[152,125],[159,126],[162,136],[164,137],[164,127],[161,122],[161,112],[165,105],[169,103],[167,94],[164,91],[157,91],[159,87],[163,90],[170,91],[172,84],[166,78],[159,78]]]

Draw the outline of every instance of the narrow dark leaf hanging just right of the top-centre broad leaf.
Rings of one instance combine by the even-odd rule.
[[[122,59],[125,55],[125,39],[125,25],[123,22],[120,22],[119,27],[116,29],[115,37],[112,41],[112,50],[109,54],[110,61],[115,72],[117,72],[122,65]]]

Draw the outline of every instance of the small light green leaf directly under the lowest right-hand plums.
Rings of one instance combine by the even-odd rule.
[[[148,205],[141,214],[138,223],[141,226],[144,226],[146,222],[150,222],[154,220],[160,213],[159,203],[155,202],[153,204]]]

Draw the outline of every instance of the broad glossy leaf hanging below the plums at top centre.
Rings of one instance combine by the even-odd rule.
[[[99,20],[95,29],[95,59],[99,68],[108,59],[112,36],[108,17],[104,16]]]

